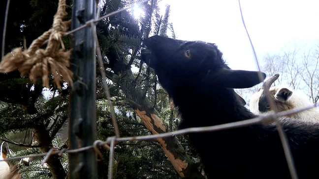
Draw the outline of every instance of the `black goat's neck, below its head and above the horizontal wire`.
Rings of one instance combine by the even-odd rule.
[[[172,97],[183,114],[181,128],[214,126],[256,117],[239,102],[232,89],[210,93],[196,89],[176,91]]]

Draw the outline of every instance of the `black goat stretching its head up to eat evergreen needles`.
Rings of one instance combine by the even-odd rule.
[[[215,44],[153,36],[142,59],[179,106],[180,128],[213,126],[256,117],[232,88],[252,87],[259,72],[231,70]],[[265,74],[261,74],[265,78]],[[300,179],[319,178],[319,125],[283,120]],[[190,134],[208,177],[290,179],[274,125]]]

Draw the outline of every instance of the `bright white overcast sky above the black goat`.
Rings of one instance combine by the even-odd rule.
[[[289,40],[319,39],[319,0],[240,2],[259,60]],[[165,4],[177,39],[216,43],[230,68],[257,70],[238,0],[162,0],[163,11]]]

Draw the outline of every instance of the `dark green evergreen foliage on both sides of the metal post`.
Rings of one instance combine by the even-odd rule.
[[[58,5],[58,0],[20,1],[20,4],[10,6],[6,52],[23,46],[24,36],[29,46],[32,40],[48,30]],[[103,0],[100,4],[100,16],[132,2],[133,0]],[[68,4],[70,18],[71,4]],[[166,6],[166,12],[162,17],[158,0],[150,0],[139,5],[144,11],[139,19],[135,19],[129,10],[123,11],[100,21],[96,28],[121,137],[151,135],[134,112],[136,106],[146,105],[152,108],[170,131],[175,130],[180,121],[177,109],[172,105],[165,90],[160,87],[155,72],[140,60],[142,40],[151,36],[150,33],[167,36],[169,27],[172,37],[175,38],[173,27],[168,23],[169,6]],[[13,8],[17,8],[19,12]],[[64,38],[64,41],[68,42],[69,38]],[[64,44],[69,48],[68,43]],[[97,139],[106,140],[115,134],[102,77],[98,69],[96,72]],[[62,91],[58,91],[55,84],[50,85],[50,96],[47,97],[42,93],[41,80],[33,85],[28,78],[20,77],[18,72],[0,74],[1,137],[10,138],[9,134],[12,132],[11,135],[14,135],[16,132],[30,132],[30,129],[41,128],[47,136],[46,145],[57,149],[67,148],[67,139],[61,139],[59,133],[67,126],[69,87],[64,84]],[[23,140],[24,150],[14,151],[11,157],[43,152],[43,141],[32,140],[34,138],[29,134],[26,136],[29,140]],[[177,139],[190,155],[191,163],[200,169],[198,156],[194,149],[189,147],[191,144],[188,137],[178,136]],[[31,141],[32,146],[38,147],[29,148]],[[100,150],[103,160],[98,162],[98,178],[106,179],[109,152],[103,148]],[[27,164],[20,160],[12,162],[20,167],[19,172],[23,179],[50,179],[52,174],[46,165],[41,165],[42,160],[43,157],[34,157]],[[68,175],[67,154],[63,154],[59,160]],[[121,142],[115,147],[114,161],[114,178],[180,178],[156,140]]]

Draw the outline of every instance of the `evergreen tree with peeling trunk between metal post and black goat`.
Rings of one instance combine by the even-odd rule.
[[[104,4],[104,8],[106,9],[105,11],[102,11],[101,14],[117,10],[123,7],[125,3],[128,3],[128,1],[107,1]],[[111,10],[108,11],[107,7],[110,7]],[[149,132],[151,132],[150,134],[156,134],[167,132],[169,128],[173,129],[176,127],[177,122],[173,123],[174,114],[176,115],[176,112],[174,112],[175,109],[170,108],[170,102],[166,92],[162,88],[158,88],[159,83],[154,71],[146,68],[139,58],[141,53],[141,41],[149,36],[150,32],[152,31],[153,23],[155,24],[155,31],[153,32],[154,34],[158,33],[159,35],[167,36],[166,32],[168,27],[169,6],[166,6],[165,15],[163,18],[161,18],[161,16],[158,14],[160,10],[157,0],[151,0],[147,3],[144,3],[142,7],[145,14],[139,21],[135,20],[129,12],[123,12],[108,18],[103,23],[99,23],[97,28],[101,32],[99,34],[99,39],[105,39],[103,42],[101,42],[101,44],[103,44],[101,49],[103,50],[103,55],[106,60],[104,62],[105,69],[107,69],[107,74],[110,77],[109,79],[112,81],[112,83],[110,83],[110,88],[113,100],[115,102],[114,105],[116,105],[118,109],[121,108],[121,105],[123,105],[123,107],[125,106],[123,117],[127,116],[130,119],[137,120],[134,120],[135,123],[129,124],[141,124],[143,122],[145,127],[149,130]],[[156,18],[153,19],[153,17]],[[125,21],[123,21],[124,19]],[[139,24],[140,27],[136,28],[139,26]],[[132,72],[131,65],[139,68],[139,71],[136,73]],[[131,116],[129,114],[134,115]],[[136,115],[139,117],[139,119],[136,118]],[[162,125],[146,125],[152,123],[152,120],[158,119],[163,122]],[[170,120],[171,122],[166,122],[166,120]],[[120,128],[124,128],[124,126],[122,126],[124,123],[119,122],[119,124]],[[169,124],[170,127],[168,127]],[[110,121],[108,123],[108,127],[111,128]],[[126,129],[125,132],[121,132],[121,136],[139,135],[138,133],[128,133],[128,131],[133,130]],[[187,141],[187,139],[184,137],[181,137],[180,140]],[[158,143],[156,146],[160,146],[162,150],[165,151],[165,154],[169,156],[168,159],[174,163],[173,166],[180,176],[187,178],[202,177],[197,169],[199,167],[198,160],[192,160],[189,155],[186,154],[186,151],[181,145],[179,145],[180,142],[176,137],[157,139],[153,142]],[[119,154],[117,153],[117,150],[120,150],[120,147],[117,147],[115,151],[116,154]],[[127,152],[123,154],[126,153]],[[170,156],[170,154],[172,156]],[[161,157],[161,160],[164,159],[165,158]],[[117,161],[115,158],[115,163],[119,164],[118,162],[119,161]],[[153,163],[156,162],[153,161]],[[150,166],[150,168],[156,169],[157,166],[153,165],[153,167]],[[180,171],[179,168],[183,168],[184,170]],[[120,168],[116,168],[115,170],[115,176],[118,172],[120,172],[118,169]],[[164,172],[163,169],[164,168],[161,168],[161,171],[164,175],[159,178],[163,178],[164,176],[164,178],[168,178],[168,176],[175,178],[173,175],[169,174],[168,171]],[[159,175],[155,174],[152,176],[152,178],[155,176]]]

